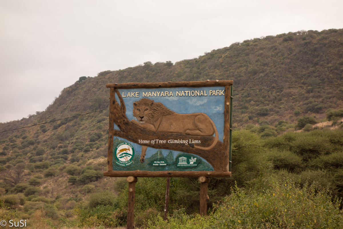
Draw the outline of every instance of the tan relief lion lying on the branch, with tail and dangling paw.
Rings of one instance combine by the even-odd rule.
[[[213,136],[210,147],[194,146],[197,149],[210,150],[218,141],[218,131],[212,119],[204,113],[178,114],[169,110],[160,102],[143,98],[133,103],[131,123],[154,132],[181,133],[191,136]],[[142,146],[140,161],[143,163],[147,146]]]

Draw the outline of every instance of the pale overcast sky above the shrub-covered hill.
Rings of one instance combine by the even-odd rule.
[[[0,122],[44,111],[81,76],[343,28],[342,9],[342,0],[0,0]]]

